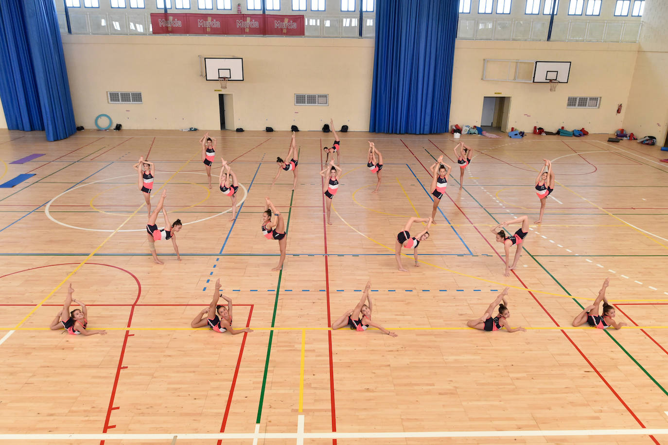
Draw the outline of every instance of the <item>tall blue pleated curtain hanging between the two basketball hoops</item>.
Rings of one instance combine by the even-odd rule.
[[[459,0],[379,0],[369,131],[448,131]]]

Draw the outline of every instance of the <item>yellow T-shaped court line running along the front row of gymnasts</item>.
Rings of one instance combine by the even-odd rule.
[[[302,331],[301,336],[301,365],[299,378],[299,412],[303,408],[303,392],[304,392],[304,355],[306,349],[306,331],[329,331],[330,327],[255,327],[251,326],[254,331]],[[104,329],[106,331],[208,331],[208,327],[96,327],[96,329]],[[456,327],[387,327],[386,329],[392,331],[478,331],[474,327],[456,326]],[[591,326],[536,326],[526,327],[527,330],[532,331],[561,331],[562,329],[596,329]],[[611,328],[612,329],[612,328]],[[668,329],[668,326],[651,325],[651,326],[624,326],[622,329]],[[0,331],[51,331],[48,327],[0,327]],[[345,330],[345,329],[344,329]],[[367,331],[376,331],[375,327],[369,327]],[[60,330],[60,333],[65,331]]]

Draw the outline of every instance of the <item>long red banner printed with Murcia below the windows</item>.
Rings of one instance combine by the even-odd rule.
[[[151,14],[154,34],[304,35],[303,15]]]

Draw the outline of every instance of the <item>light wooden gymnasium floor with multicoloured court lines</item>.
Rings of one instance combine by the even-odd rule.
[[[287,132],[212,134],[242,184],[234,222],[220,214],[230,200],[206,187],[201,132],[86,130],[44,142],[0,130],[0,182],[35,173],[0,189],[0,442],[668,444],[668,164],[659,147],[603,135],[467,136],[480,151],[464,189],[455,171],[422,264],[404,257],[409,273],[400,274],[395,234],[409,216],[429,216],[424,166],[441,150],[452,164],[450,135],[343,134],[345,174],[327,227],[318,172],[330,134],[298,134],[294,194],[289,173],[271,186]],[[385,160],[377,195],[369,138]],[[9,164],[31,153],[46,155]],[[170,243],[157,243],[165,265],[150,259],[130,168],[140,155],[156,163],[154,195],[166,186],[172,219],[186,223],[182,262]],[[545,157],[553,198],[504,278],[488,229],[512,215],[534,220]],[[278,243],[259,230],[267,195],[287,216],[282,273],[270,270]],[[235,326],[253,333],[190,329],[218,277]],[[369,277],[373,318],[397,338],[327,329]],[[605,277],[629,327],[572,328]],[[90,327],[108,335],[48,330],[68,282],[90,305]],[[468,329],[504,285],[512,325],[528,331]]]

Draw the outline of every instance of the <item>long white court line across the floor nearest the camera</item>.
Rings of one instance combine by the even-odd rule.
[[[259,426],[256,426],[259,428]],[[668,428],[607,430],[512,430],[512,431],[407,431],[317,433],[186,433],[186,434],[0,434],[0,440],[179,440],[188,439],[389,439],[453,437],[552,437],[552,436],[661,436]]]

